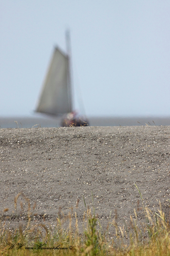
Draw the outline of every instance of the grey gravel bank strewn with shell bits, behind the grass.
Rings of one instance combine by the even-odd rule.
[[[33,223],[54,227],[69,211],[81,223],[89,206],[103,230],[116,212],[128,225],[134,208],[145,219],[134,183],[145,206],[161,203],[168,216],[169,158],[169,126],[0,129],[1,221],[26,223],[30,202]]]

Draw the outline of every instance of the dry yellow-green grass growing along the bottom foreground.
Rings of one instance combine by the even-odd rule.
[[[26,227],[20,226],[13,231],[7,231],[2,224],[0,255],[170,255],[170,224],[169,221],[166,221],[161,207],[159,214],[156,214],[143,206],[146,223],[142,225],[142,228],[137,220],[135,209],[135,219],[130,216],[130,229],[126,226],[118,226],[115,213],[115,219],[110,220],[104,233],[95,213],[87,208],[82,221],[83,232],[80,233],[76,213],[71,212],[64,216],[61,209],[59,209],[55,230],[47,228],[42,223],[31,226],[30,201],[22,193],[19,193],[14,200],[15,206],[19,196],[23,196],[27,201],[28,224]],[[142,199],[141,194],[140,196]],[[4,211],[7,210],[4,209]],[[72,227],[73,216],[75,218],[74,227]],[[69,223],[67,229],[64,228],[66,221]],[[114,230],[111,237],[109,236],[110,227]]]

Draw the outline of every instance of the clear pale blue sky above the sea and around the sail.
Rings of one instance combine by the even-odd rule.
[[[0,0],[0,116],[34,116],[70,29],[75,109],[170,116],[169,0]]]

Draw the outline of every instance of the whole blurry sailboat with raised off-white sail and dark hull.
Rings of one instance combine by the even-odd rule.
[[[73,109],[70,71],[69,32],[66,33],[67,54],[59,47],[54,48],[35,112],[52,116],[62,116],[61,126],[87,126],[88,120],[77,115]]]

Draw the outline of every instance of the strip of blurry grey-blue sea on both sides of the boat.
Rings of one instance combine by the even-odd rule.
[[[90,126],[170,125],[169,117],[89,117]],[[0,128],[60,127],[61,118],[49,116],[0,117]]]

